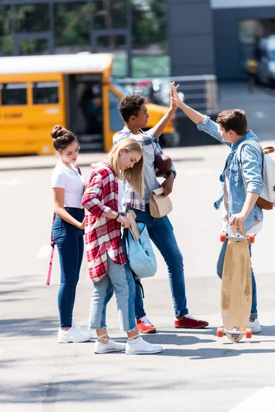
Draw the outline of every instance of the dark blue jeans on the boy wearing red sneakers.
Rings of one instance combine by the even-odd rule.
[[[133,209],[128,207],[128,209]],[[173,297],[175,315],[182,316],[188,314],[186,302],[186,290],[184,281],[184,262],[181,251],[177,246],[173,226],[167,216],[163,218],[153,218],[150,213],[149,205],[146,211],[133,209],[137,215],[136,220],[144,222],[148,234],[155,243],[159,252],[168,266],[168,276],[170,290]],[[146,315],[143,307],[142,290],[139,285],[135,285],[135,317],[141,318]]]

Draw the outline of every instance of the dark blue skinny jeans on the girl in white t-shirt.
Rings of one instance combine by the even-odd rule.
[[[65,207],[78,222],[84,219],[84,209]],[[61,328],[71,328],[80,266],[83,260],[83,230],[56,216],[52,228],[61,266],[61,286],[58,292],[58,310]]]

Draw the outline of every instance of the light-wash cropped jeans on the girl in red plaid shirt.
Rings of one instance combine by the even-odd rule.
[[[124,240],[122,248],[126,256]],[[106,308],[115,292],[118,306],[120,332],[135,329],[135,282],[128,262],[124,265],[115,264],[107,254],[107,273],[94,283],[94,293],[91,297],[89,313],[89,329],[107,328]]]

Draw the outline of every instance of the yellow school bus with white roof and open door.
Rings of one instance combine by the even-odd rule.
[[[109,151],[123,127],[118,103],[129,94],[112,83],[112,67],[112,54],[0,57],[0,155],[52,155],[55,124],[73,130],[82,149]],[[147,106],[151,128],[167,108]],[[173,121],[164,135],[173,146]]]

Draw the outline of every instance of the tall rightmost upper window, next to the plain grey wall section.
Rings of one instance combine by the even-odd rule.
[[[167,0],[132,0],[132,54],[168,54]]]

